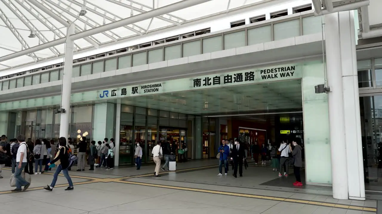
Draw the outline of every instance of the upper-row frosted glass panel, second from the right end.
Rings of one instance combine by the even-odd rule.
[[[299,19],[273,25],[275,40],[298,37],[300,35]]]

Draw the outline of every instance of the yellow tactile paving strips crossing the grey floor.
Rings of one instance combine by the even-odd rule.
[[[181,169],[181,170],[177,170],[176,172],[192,171],[192,170],[198,170],[198,169],[200,170],[200,169],[206,169],[206,168],[211,168],[211,167],[212,166],[204,166],[204,167],[198,167],[198,168]],[[10,170],[8,168],[3,168],[3,169]],[[161,172],[160,174],[165,174],[165,173],[168,173],[168,172]],[[51,172],[45,172],[44,174],[53,175],[53,173],[51,173]],[[59,176],[63,176],[63,174],[59,174]],[[251,195],[251,194],[223,192],[223,191],[216,191],[216,190],[204,190],[204,189],[198,189],[198,188],[178,187],[178,186],[169,186],[169,185],[161,185],[161,184],[148,184],[148,183],[133,182],[133,181],[126,180],[126,179],[130,179],[130,178],[147,177],[147,176],[152,176],[152,174],[143,174],[143,175],[138,175],[138,176],[118,177],[118,178],[95,178],[95,177],[74,176],[74,175],[71,175],[70,177],[87,180],[87,181],[83,181],[83,182],[73,183],[73,185],[94,184],[94,183],[99,183],[99,182],[101,182],[101,183],[116,182],[116,183],[121,183],[121,184],[133,184],[133,185],[142,185],[142,186],[148,186],[148,187],[159,187],[159,188],[167,188],[167,189],[175,189],[175,190],[192,191],[192,192],[212,193],[212,194],[219,194],[219,195],[230,195],[230,196],[238,196],[238,197],[246,197],[246,198],[258,198],[258,199],[272,200],[272,201],[286,201],[286,202],[291,202],[291,203],[311,204],[311,205],[316,205],[316,206],[325,206],[325,207],[332,207],[332,208],[342,208],[342,209],[353,209],[353,210],[358,210],[358,211],[377,212],[376,208],[369,208],[369,207],[363,207],[363,206],[351,206],[351,205],[346,205],[346,204],[326,203],[326,202],[320,202],[320,201],[299,200],[299,199],[281,198],[281,197],[272,197],[272,196],[263,196],[263,195]],[[56,187],[66,187],[67,185],[68,184],[60,184],[60,185],[56,185]],[[28,191],[42,190],[43,188],[44,187],[33,187],[33,188],[29,188]],[[12,192],[10,190],[0,191],[0,195],[9,194],[9,193],[12,193]]]

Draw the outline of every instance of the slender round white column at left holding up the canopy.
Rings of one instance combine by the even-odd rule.
[[[60,137],[69,137],[70,123],[70,94],[71,94],[71,79],[73,70],[73,50],[74,41],[70,39],[70,35],[74,34],[74,24],[68,27],[68,32],[65,40],[65,57],[64,57],[64,73],[62,78],[62,93],[61,93],[61,108],[65,109],[65,113],[61,113],[60,121]]]

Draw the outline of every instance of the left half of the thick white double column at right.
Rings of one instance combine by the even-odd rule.
[[[333,198],[348,199],[345,120],[342,99],[341,49],[338,13],[325,15],[325,48],[329,99]]]

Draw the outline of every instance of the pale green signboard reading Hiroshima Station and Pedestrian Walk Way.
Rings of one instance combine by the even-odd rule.
[[[97,99],[113,99],[147,94],[171,93],[195,89],[218,88],[278,80],[291,80],[302,77],[299,65],[283,65],[261,69],[203,75],[194,78],[168,80],[142,85],[131,85],[97,91]]]

